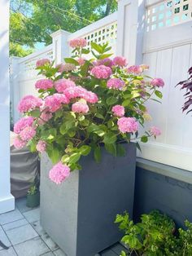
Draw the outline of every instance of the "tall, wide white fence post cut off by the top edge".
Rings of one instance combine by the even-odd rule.
[[[117,55],[129,65],[142,63],[142,38],[146,0],[119,0],[117,15]]]

